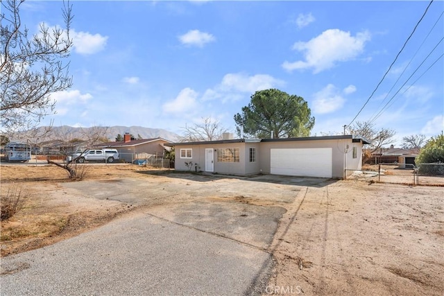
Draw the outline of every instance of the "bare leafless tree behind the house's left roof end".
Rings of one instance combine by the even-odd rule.
[[[221,126],[217,119],[203,117],[202,123],[196,123],[193,126],[187,126],[183,129],[183,136],[180,141],[216,141],[222,139],[222,134],[228,130]]]

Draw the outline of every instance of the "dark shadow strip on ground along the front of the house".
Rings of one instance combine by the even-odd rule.
[[[171,177],[175,179],[185,179],[196,182],[211,182],[215,180],[223,179],[237,179],[246,180],[251,182],[265,182],[272,184],[286,184],[286,185],[298,185],[309,187],[323,187],[337,182],[338,180],[318,177],[294,177],[284,175],[221,175],[218,173],[206,173],[206,172],[187,172],[187,171],[137,171],[137,173],[144,175],[157,175],[162,177]]]

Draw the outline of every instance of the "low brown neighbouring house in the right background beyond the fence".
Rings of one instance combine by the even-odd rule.
[[[382,148],[372,153],[375,164],[398,164],[400,168],[408,168],[415,165],[415,159],[419,154],[419,149]],[[406,166],[407,164],[407,166]]]

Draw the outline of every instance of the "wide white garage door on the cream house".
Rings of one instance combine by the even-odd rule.
[[[271,149],[271,173],[332,177],[332,148]]]

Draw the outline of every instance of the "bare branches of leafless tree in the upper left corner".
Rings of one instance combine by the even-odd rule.
[[[50,97],[71,87],[68,73],[72,39],[69,29],[73,15],[69,2],[62,14],[65,27],[40,24],[35,35],[28,35],[22,24],[20,6],[24,0],[0,2],[0,89],[3,133],[35,128],[56,104]]]

